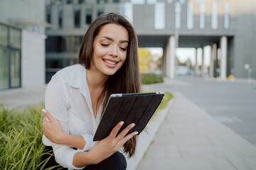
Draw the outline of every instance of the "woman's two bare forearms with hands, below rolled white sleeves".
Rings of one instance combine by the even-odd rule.
[[[58,123],[58,120],[53,118],[48,111],[44,109],[42,111],[49,120],[46,120],[46,117],[43,118],[43,133],[50,141],[62,145],[68,145],[70,147],[83,148],[84,145],[86,145],[81,145],[80,143],[82,141],[85,143],[82,136],[65,134]],[[124,128],[124,130],[122,130],[122,132],[117,136],[117,132],[119,132],[123,124],[124,122],[118,123],[113,128],[110,135],[105,139],[96,142],[89,152],[76,152],[73,156],[73,166],[82,167],[88,164],[98,164],[99,162],[102,162],[102,160],[107,159],[107,157],[110,157],[114,152],[117,152],[117,150],[122,147],[127,140],[131,139],[134,135],[137,135],[137,132],[132,132],[127,135],[127,132],[134,127],[134,123],[132,123]]]

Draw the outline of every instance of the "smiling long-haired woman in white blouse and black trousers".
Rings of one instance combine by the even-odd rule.
[[[117,135],[93,142],[110,94],[140,92],[137,35],[124,16],[99,16],[82,40],[78,64],[57,72],[46,89],[43,144],[53,147],[55,160],[68,169],[126,169],[124,152],[132,157],[134,123]],[[76,148],[76,149],[74,149]]]

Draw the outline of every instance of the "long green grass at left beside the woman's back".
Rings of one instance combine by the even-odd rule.
[[[23,110],[7,109],[0,105],[0,169],[45,169],[48,159],[41,160],[44,145],[40,106]],[[51,168],[49,168],[51,169]]]

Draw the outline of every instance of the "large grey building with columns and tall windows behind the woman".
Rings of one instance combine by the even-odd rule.
[[[46,19],[52,27],[46,30],[46,79],[75,63],[90,23],[107,12],[129,18],[139,47],[164,49],[166,77],[174,78],[176,47],[210,45],[210,77],[255,79],[255,11],[253,0],[49,0]],[[195,72],[200,74],[197,63]]]

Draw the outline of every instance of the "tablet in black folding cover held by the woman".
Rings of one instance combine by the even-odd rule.
[[[135,123],[134,128],[127,134],[137,131],[139,135],[163,98],[163,91],[141,94],[112,94],[107,101],[105,111],[102,113],[102,119],[93,141],[102,140],[110,135],[114,126],[120,121],[124,121],[124,125],[122,125],[119,132],[122,132],[127,125]]]

